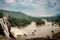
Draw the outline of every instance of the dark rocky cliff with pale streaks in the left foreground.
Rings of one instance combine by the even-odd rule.
[[[0,18],[0,40],[10,40],[14,38],[10,32],[11,24],[8,22],[6,17]]]

